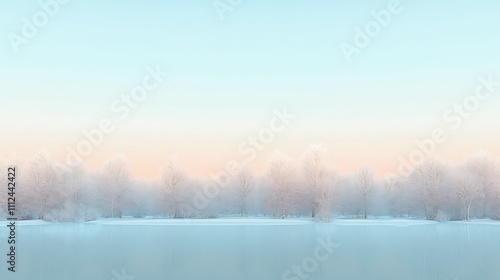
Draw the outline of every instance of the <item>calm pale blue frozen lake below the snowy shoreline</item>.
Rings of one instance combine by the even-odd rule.
[[[500,279],[500,222],[289,219],[18,222],[0,279]]]

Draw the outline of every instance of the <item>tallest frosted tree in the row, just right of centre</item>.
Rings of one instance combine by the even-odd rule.
[[[302,163],[304,178],[306,180],[307,190],[306,196],[308,197],[311,217],[316,217],[316,212],[318,211],[320,199],[324,199],[322,195],[322,189],[325,188],[324,181],[326,176],[326,150],[321,144],[315,144],[309,147],[305,152]]]

